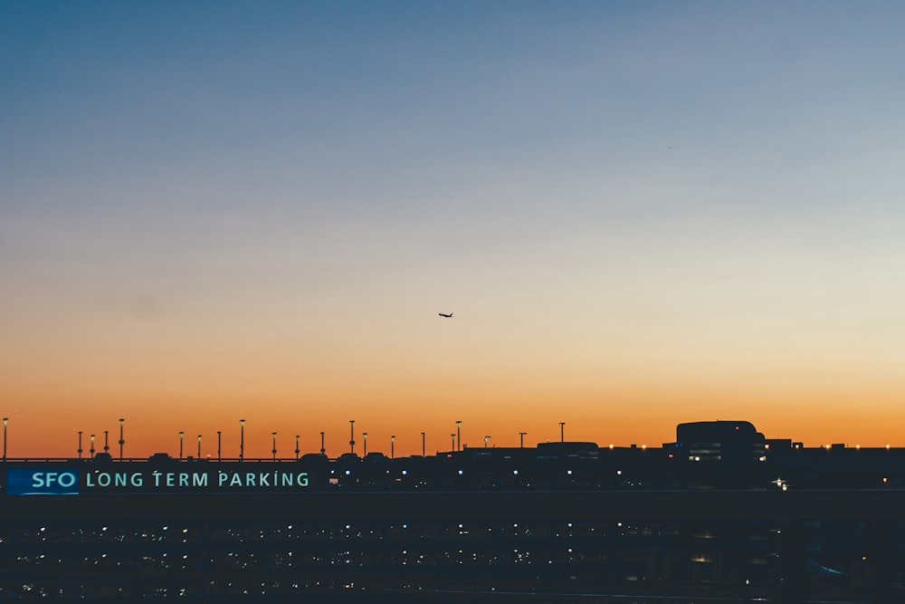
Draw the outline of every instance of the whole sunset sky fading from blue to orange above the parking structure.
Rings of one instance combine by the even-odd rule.
[[[10,456],[905,446],[905,6],[0,3]],[[438,312],[453,312],[452,319]],[[111,448],[116,450],[117,446]]]

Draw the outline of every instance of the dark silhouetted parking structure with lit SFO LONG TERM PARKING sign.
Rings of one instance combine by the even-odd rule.
[[[905,602],[905,451],[7,460],[0,601]]]

